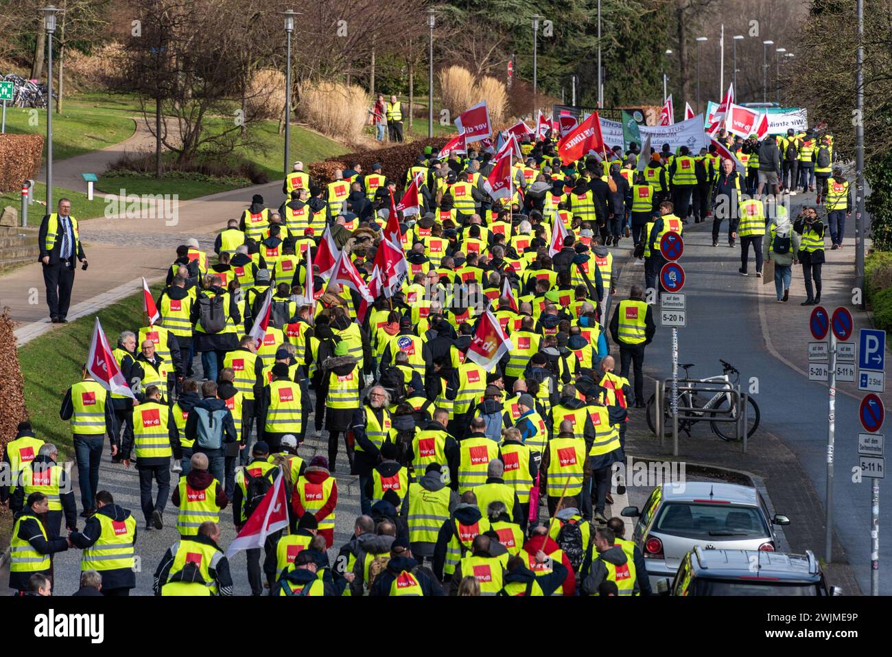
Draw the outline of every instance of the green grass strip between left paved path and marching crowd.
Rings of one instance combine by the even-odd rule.
[[[159,284],[152,288],[153,296],[161,291],[161,287]],[[99,312],[99,321],[112,348],[120,331],[136,331],[140,327],[142,315],[141,293],[128,296]],[[81,317],[19,349],[21,374],[25,379],[25,404],[35,433],[45,441],[59,445],[68,455],[73,453],[71,429],[69,422],[59,419],[59,407],[68,387],[80,380],[80,368],[87,359],[94,322],[94,315]]]

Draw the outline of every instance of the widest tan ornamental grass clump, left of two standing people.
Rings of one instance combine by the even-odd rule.
[[[300,87],[298,114],[312,129],[347,144],[360,141],[371,101],[362,87],[308,82]]]

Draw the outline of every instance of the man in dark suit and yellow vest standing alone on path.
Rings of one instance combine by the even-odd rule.
[[[71,216],[69,199],[60,199],[58,211],[45,215],[40,222],[37,244],[40,246],[39,260],[44,267],[50,320],[54,324],[64,324],[68,321],[65,316],[71,302],[75,260],[83,262],[84,269],[87,269],[87,256],[84,255],[78,234],[78,220]]]

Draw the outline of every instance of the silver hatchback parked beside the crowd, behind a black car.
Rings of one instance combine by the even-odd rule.
[[[655,588],[658,580],[675,576],[684,555],[697,545],[774,552],[773,525],[789,525],[786,516],[769,516],[756,488],[712,481],[663,484],[643,509],[627,506],[622,515],[638,519],[632,540],[644,554]]]

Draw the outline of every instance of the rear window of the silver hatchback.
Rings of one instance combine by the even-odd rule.
[[[672,502],[660,511],[655,529],[686,538],[755,538],[768,536],[758,509],[733,504]]]

